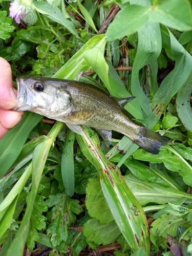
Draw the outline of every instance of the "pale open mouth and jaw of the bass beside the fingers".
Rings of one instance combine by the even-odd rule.
[[[25,111],[29,110],[31,106],[28,103],[27,100],[27,87],[25,84],[25,79],[24,78],[16,78],[17,82],[17,105],[14,107],[14,111]]]

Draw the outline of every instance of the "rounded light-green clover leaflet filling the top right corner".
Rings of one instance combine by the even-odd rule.
[[[148,13],[151,22],[162,23],[179,31],[192,29],[191,7],[187,0],[166,0]]]

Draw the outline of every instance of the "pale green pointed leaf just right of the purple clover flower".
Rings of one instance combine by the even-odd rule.
[[[38,12],[47,15],[48,18],[54,20],[54,22],[63,25],[72,34],[79,38],[74,24],[62,16],[62,13],[59,8],[56,7],[55,9],[52,9],[51,6],[46,2],[34,1],[33,5]]]

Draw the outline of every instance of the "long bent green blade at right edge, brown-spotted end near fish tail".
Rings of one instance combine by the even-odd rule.
[[[175,68],[162,81],[159,90],[153,97],[152,115],[146,120],[148,128],[152,128],[164,112],[165,106],[172,97],[184,86],[191,77],[192,58],[179,44],[177,39],[164,26],[161,27],[162,45],[166,52],[170,52],[175,60]]]

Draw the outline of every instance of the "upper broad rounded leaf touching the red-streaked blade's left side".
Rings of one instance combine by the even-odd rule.
[[[114,221],[108,204],[103,196],[99,178],[89,179],[86,188],[86,207],[92,218],[100,221],[100,224],[108,224]]]

